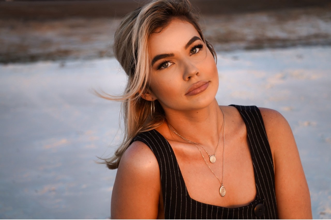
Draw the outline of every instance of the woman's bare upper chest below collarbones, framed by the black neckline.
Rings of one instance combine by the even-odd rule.
[[[214,152],[199,145],[170,144],[190,198],[222,207],[240,207],[255,200],[255,174],[244,127],[226,139],[224,149],[223,144],[219,146],[215,163],[209,158]],[[221,183],[226,189],[224,197],[220,196]]]

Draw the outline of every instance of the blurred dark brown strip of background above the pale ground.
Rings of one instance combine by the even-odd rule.
[[[142,0],[0,1],[0,62],[113,56],[118,19]],[[217,51],[330,45],[330,0],[192,0]]]

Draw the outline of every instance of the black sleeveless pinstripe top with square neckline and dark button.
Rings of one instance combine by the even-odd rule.
[[[198,202],[187,192],[175,154],[156,130],[138,134],[155,154],[161,174],[166,219],[277,219],[274,168],[260,110],[256,106],[235,106],[247,128],[257,189],[256,200],[247,206],[225,208]]]

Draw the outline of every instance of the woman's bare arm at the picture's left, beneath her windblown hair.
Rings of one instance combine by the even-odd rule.
[[[160,170],[151,149],[140,141],[124,152],[114,183],[112,219],[156,219],[160,198]]]

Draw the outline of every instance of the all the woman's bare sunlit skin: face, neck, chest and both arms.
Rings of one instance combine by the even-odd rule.
[[[150,89],[142,97],[146,100],[158,99],[169,124],[179,134],[201,143],[211,153],[215,151],[223,122],[215,99],[218,73],[211,52],[196,37],[200,36],[193,25],[175,18],[161,32],[149,38],[150,57],[170,56],[153,63]],[[192,38],[195,40],[190,43]],[[196,47],[200,44],[202,48]],[[193,95],[187,94],[196,83],[204,86],[195,90]],[[223,207],[240,207],[248,205],[256,197],[247,131],[236,108],[221,108],[226,119],[225,197],[220,197],[220,183],[196,146],[174,134],[166,123],[157,130],[172,146],[191,198]],[[277,111],[266,108],[260,108],[260,111],[275,167],[279,218],[312,218],[307,181],[291,128]],[[208,158],[204,150],[201,151]],[[221,138],[216,163],[209,164],[220,179],[222,154]],[[164,218],[158,162],[150,148],[140,141],[129,146],[119,163],[111,215],[116,219]]]

